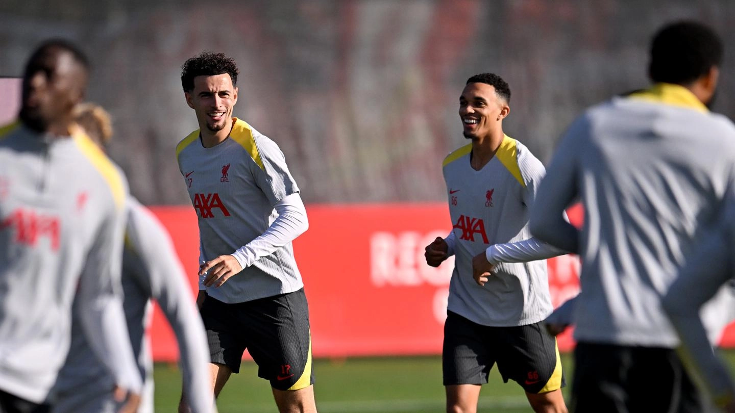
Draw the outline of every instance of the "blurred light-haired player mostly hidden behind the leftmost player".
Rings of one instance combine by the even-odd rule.
[[[87,136],[104,150],[112,137],[110,115],[96,104],[80,104],[76,107],[75,118]],[[127,199],[126,209],[123,309],[140,378],[144,382],[138,412],[154,410],[153,364],[145,337],[151,320],[151,298],[163,310],[179,342],[184,389],[192,411],[212,412],[212,394],[196,390],[209,387],[207,337],[171,237],[159,220],[132,196]],[[52,412],[117,412],[119,406],[110,391],[114,379],[104,364],[95,359],[87,338],[79,328],[79,319],[75,317],[71,349],[55,386],[58,395]]]

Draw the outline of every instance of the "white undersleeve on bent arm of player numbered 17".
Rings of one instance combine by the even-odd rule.
[[[243,268],[249,267],[263,256],[273,254],[273,251],[292,242],[309,229],[306,208],[298,193],[285,196],[273,208],[279,216],[273,220],[268,229],[232,254]]]

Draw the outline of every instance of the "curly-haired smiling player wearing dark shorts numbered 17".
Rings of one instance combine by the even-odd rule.
[[[309,308],[291,245],[308,228],[298,187],[276,143],[232,117],[234,60],[205,52],[182,70],[200,129],[176,159],[198,216],[215,397],[247,348],[280,412],[316,412]]]

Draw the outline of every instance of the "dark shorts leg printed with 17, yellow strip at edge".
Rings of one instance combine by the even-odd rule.
[[[258,376],[278,390],[314,384],[309,306],[304,289],[248,302],[248,351]]]

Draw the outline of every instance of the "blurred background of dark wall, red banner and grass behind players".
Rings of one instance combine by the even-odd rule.
[[[113,116],[110,154],[171,230],[194,283],[196,215],[173,151],[197,126],[180,67],[203,50],[234,57],[235,115],[279,143],[309,211],[295,250],[321,411],[442,412],[437,354],[451,262],[426,267],[423,246],[451,228],[440,162],[465,144],[456,115],[465,80],[503,76],[512,90],[506,133],[548,162],[581,109],[647,84],[648,40],[679,18],[722,35],[714,110],[733,118],[730,0],[3,0],[0,76],[21,76],[48,37],[81,45],[93,61],[89,100]],[[17,79],[0,81],[0,120],[17,104]],[[555,304],[576,292],[577,265],[550,262]],[[176,360],[159,317],[151,334],[156,358]],[[563,348],[571,345],[564,336]],[[268,384],[245,363],[221,412],[273,411]],[[173,411],[177,374],[157,367],[159,411]],[[481,411],[528,411],[520,387],[500,383],[494,376],[484,389]]]

